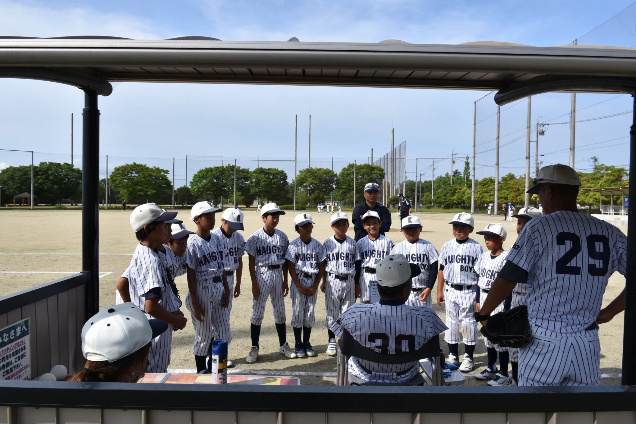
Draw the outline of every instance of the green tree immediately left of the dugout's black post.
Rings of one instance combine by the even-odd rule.
[[[34,174],[39,203],[55,205],[63,199],[81,200],[81,170],[70,163],[41,162]]]

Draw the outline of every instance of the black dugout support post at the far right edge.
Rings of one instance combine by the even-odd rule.
[[[634,97],[634,113],[630,128],[630,175],[636,172],[636,97]],[[627,215],[627,282],[636,278],[636,216]],[[630,232],[631,231],[631,232]],[[636,364],[630,360],[630,352],[636,349],[636,286],[625,285],[625,324],[623,324],[623,370],[621,384],[636,384]]]

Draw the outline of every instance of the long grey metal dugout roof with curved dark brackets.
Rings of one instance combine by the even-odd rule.
[[[0,78],[44,79],[101,95],[109,95],[117,81],[241,83],[495,90],[497,103],[505,104],[549,91],[625,92],[636,86],[635,58],[633,48],[492,41],[0,37]]]

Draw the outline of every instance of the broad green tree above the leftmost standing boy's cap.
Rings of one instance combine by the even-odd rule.
[[[168,170],[143,163],[127,163],[114,168],[110,182],[120,192],[121,200],[128,203],[163,203],[172,197]]]

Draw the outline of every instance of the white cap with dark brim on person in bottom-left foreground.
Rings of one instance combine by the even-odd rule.
[[[148,345],[168,324],[148,320],[134,304],[120,303],[88,318],[81,329],[81,352],[88,360],[114,362]]]

